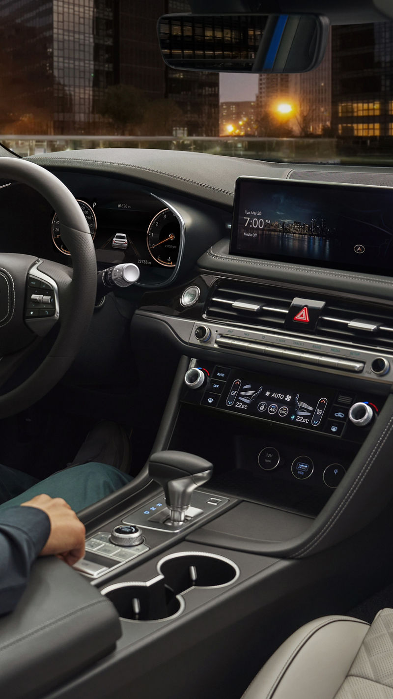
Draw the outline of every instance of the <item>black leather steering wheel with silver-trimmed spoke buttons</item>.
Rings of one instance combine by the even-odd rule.
[[[0,387],[54,324],[59,334],[40,366],[0,395],[0,418],[33,405],[61,379],[89,328],[97,288],[96,253],[75,197],[57,177],[26,160],[0,157],[0,178],[42,194],[58,213],[73,268],[32,255],[0,253]]]

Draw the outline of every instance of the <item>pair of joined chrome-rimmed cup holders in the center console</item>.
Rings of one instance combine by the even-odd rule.
[[[101,591],[130,621],[160,621],[184,610],[182,594],[193,587],[224,587],[239,577],[235,563],[216,554],[186,552],[158,561],[158,575],[148,582],[119,582]]]

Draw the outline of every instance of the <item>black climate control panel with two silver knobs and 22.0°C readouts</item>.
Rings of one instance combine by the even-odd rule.
[[[192,360],[182,401],[254,420],[356,442],[377,419],[383,398]]]

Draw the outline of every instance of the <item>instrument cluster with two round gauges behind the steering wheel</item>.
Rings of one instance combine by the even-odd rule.
[[[184,248],[184,222],[170,203],[128,182],[78,178],[70,182],[96,248],[98,269],[128,263],[140,268],[141,284],[168,282]],[[32,189],[18,183],[0,188],[3,252],[24,252],[71,264],[61,240],[57,212]],[[22,204],[22,206],[21,206]],[[28,218],[28,223],[27,223]],[[13,231],[10,237],[6,231]]]

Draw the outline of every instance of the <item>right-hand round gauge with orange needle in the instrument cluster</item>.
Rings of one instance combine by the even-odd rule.
[[[180,246],[180,224],[170,209],[158,212],[147,231],[151,257],[165,267],[175,267]]]

